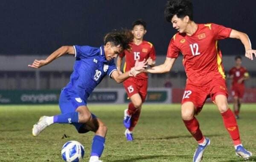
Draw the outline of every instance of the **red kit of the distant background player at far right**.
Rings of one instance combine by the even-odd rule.
[[[233,75],[232,81],[232,95],[239,98],[244,96],[244,81],[239,83],[239,79],[249,76],[248,71],[244,67],[232,67],[229,71],[229,75]]]

